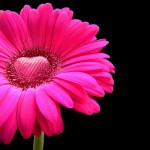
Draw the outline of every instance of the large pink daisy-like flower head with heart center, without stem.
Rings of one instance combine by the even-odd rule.
[[[26,139],[60,134],[59,105],[92,115],[100,111],[93,96],[113,91],[114,66],[101,52],[108,42],[97,40],[97,25],[72,17],[50,3],[0,11],[1,142],[17,129]]]

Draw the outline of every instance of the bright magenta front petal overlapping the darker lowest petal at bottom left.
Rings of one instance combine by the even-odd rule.
[[[6,87],[4,87],[6,88]],[[5,90],[5,89],[4,89]],[[2,126],[17,106],[21,89],[10,86],[7,94],[1,99],[0,126]]]

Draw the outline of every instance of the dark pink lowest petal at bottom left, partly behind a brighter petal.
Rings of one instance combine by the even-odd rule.
[[[17,131],[16,109],[11,113],[8,120],[0,127],[0,141],[9,144]]]

